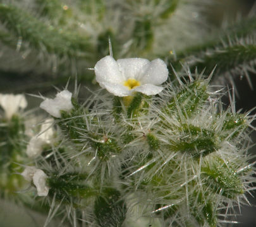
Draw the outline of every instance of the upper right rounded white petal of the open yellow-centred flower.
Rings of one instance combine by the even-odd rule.
[[[149,66],[143,72],[140,82],[142,84],[159,85],[164,83],[168,78],[168,69],[166,63],[161,59],[155,59],[150,62]]]

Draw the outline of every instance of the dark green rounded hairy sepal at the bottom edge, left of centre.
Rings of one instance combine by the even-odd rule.
[[[121,227],[126,211],[125,201],[116,189],[104,189],[102,195],[95,200],[94,214],[101,227]]]

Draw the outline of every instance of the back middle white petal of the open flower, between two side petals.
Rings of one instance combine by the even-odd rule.
[[[128,59],[118,59],[119,70],[121,71],[125,80],[129,78],[140,78],[143,73],[143,69],[148,67],[150,61],[147,59],[142,59],[138,57],[128,58]]]

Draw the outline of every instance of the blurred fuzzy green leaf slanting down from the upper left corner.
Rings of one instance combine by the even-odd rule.
[[[47,52],[60,57],[64,55],[84,57],[92,50],[87,38],[61,32],[15,6],[0,4],[0,21],[37,50],[41,50],[44,46]]]

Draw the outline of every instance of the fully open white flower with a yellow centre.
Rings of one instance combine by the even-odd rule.
[[[94,67],[96,80],[102,88],[116,96],[130,96],[133,91],[156,95],[163,90],[157,86],[168,78],[164,61],[141,58],[118,59],[106,56]]]

